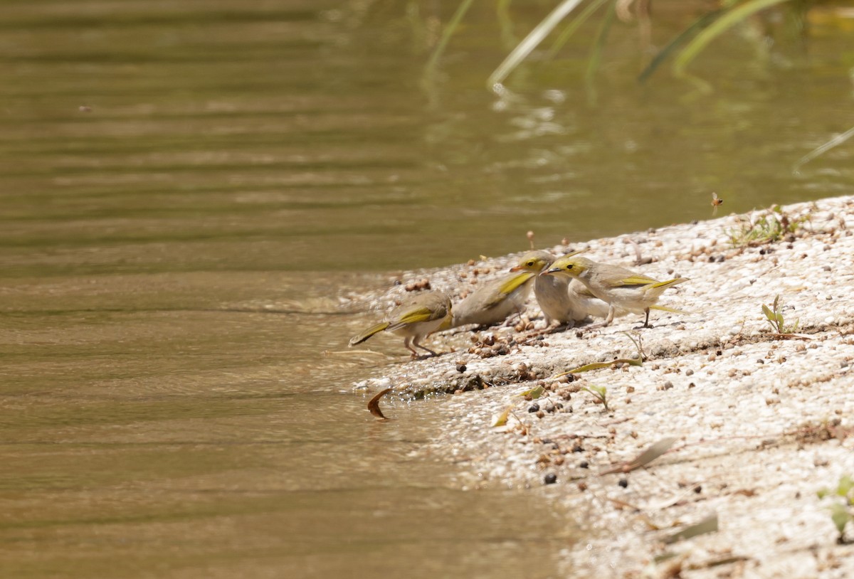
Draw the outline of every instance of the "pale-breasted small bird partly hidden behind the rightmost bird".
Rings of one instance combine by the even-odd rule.
[[[564,257],[578,253],[580,252],[576,251]],[[529,251],[519,259],[516,266],[510,268],[510,271],[540,273],[551,266],[555,259],[555,256],[547,251]],[[608,315],[608,304],[593,295],[577,279],[564,276],[537,276],[534,282],[534,295],[546,318],[547,326],[557,322],[572,327],[588,316],[605,318]],[[626,312],[620,310],[619,313]]]

